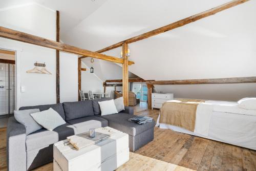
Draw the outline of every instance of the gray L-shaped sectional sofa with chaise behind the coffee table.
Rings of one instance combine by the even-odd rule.
[[[26,106],[19,110],[54,109],[67,122],[53,131],[38,130],[26,136],[23,124],[10,117],[7,126],[7,164],[8,170],[31,170],[53,161],[53,144],[68,136],[89,131],[90,128],[110,126],[129,134],[129,147],[136,151],[154,139],[155,121],[139,125],[127,121],[134,117],[133,109],[125,106],[125,110],[113,115],[100,115],[98,100],[63,102],[58,104]]]

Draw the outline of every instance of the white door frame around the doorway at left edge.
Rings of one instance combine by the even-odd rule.
[[[20,92],[20,86],[21,86],[21,79],[20,79],[20,69],[21,69],[21,61],[20,56],[23,52],[23,49],[1,45],[0,49],[8,50],[8,51],[15,51],[15,108],[14,110],[18,110],[21,107],[22,98],[21,98],[21,92]]]

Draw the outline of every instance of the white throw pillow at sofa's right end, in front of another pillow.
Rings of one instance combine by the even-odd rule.
[[[101,115],[111,115],[118,113],[114,100],[99,101]]]

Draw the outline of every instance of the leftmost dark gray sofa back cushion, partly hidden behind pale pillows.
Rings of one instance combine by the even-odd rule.
[[[34,106],[25,106],[19,108],[19,110],[26,110],[26,109],[39,109],[40,111],[46,111],[52,108],[54,111],[58,112],[58,114],[65,120],[65,112],[63,109],[62,103],[58,104],[46,104],[46,105],[34,105]]]

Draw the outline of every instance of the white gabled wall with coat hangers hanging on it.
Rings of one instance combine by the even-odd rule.
[[[52,40],[56,37],[55,12],[35,4],[0,10],[0,25]],[[55,50],[5,38],[0,38],[1,46],[23,50],[20,56],[21,69],[17,71],[20,72],[21,85],[26,89],[21,94],[21,106],[56,103]],[[36,61],[45,62],[52,75],[26,73],[34,68]]]

